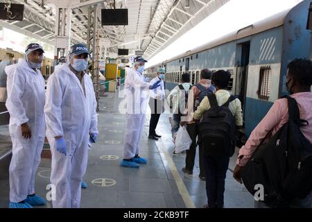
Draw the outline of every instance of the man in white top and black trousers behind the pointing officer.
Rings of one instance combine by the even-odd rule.
[[[154,84],[157,81],[161,81],[159,87],[156,89],[150,90],[150,132],[148,138],[158,140],[161,135],[156,134],[156,127],[159,121],[160,114],[164,112],[164,98],[165,98],[165,91],[164,91],[164,74],[165,74],[164,67],[158,67],[157,69],[157,76],[150,80],[150,84]]]

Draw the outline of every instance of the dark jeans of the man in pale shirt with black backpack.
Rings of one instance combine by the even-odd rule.
[[[204,157],[208,206],[222,208],[224,203],[225,177],[229,167],[229,156]]]

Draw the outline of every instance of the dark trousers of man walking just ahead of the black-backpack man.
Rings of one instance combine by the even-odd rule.
[[[187,124],[187,132],[192,139],[192,144],[187,150],[187,157],[185,159],[185,166],[188,170],[193,171],[193,167],[195,164],[195,157],[196,157],[196,137],[199,134],[198,130],[198,123],[191,123]],[[199,165],[200,165],[200,176],[205,176],[205,167],[204,167],[204,149],[202,148],[201,144],[199,145]]]

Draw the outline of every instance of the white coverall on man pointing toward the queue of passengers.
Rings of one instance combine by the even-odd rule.
[[[131,159],[135,155],[139,155],[140,138],[144,130],[145,114],[148,105],[148,89],[151,84],[144,82],[144,76],[136,69],[128,68],[126,71],[127,130],[123,146],[123,158]]]

